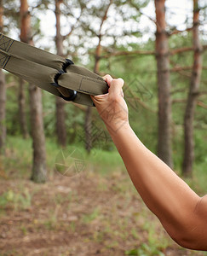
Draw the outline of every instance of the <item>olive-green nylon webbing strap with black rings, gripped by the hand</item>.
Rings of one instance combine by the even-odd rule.
[[[0,67],[67,101],[94,106],[89,95],[107,93],[106,82],[72,61],[0,33]]]

